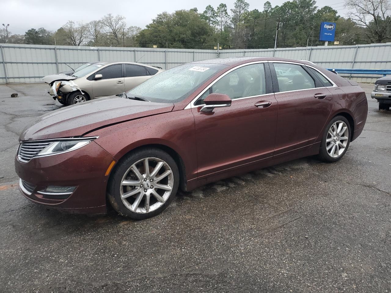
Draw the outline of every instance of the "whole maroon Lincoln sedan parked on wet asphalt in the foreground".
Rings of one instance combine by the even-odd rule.
[[[20,191],[46,207],[161,213],[178,188],[319,154],[341,159],[365,124],[357,83],[305,62],[212,59],[41,116],[20,135]]]

